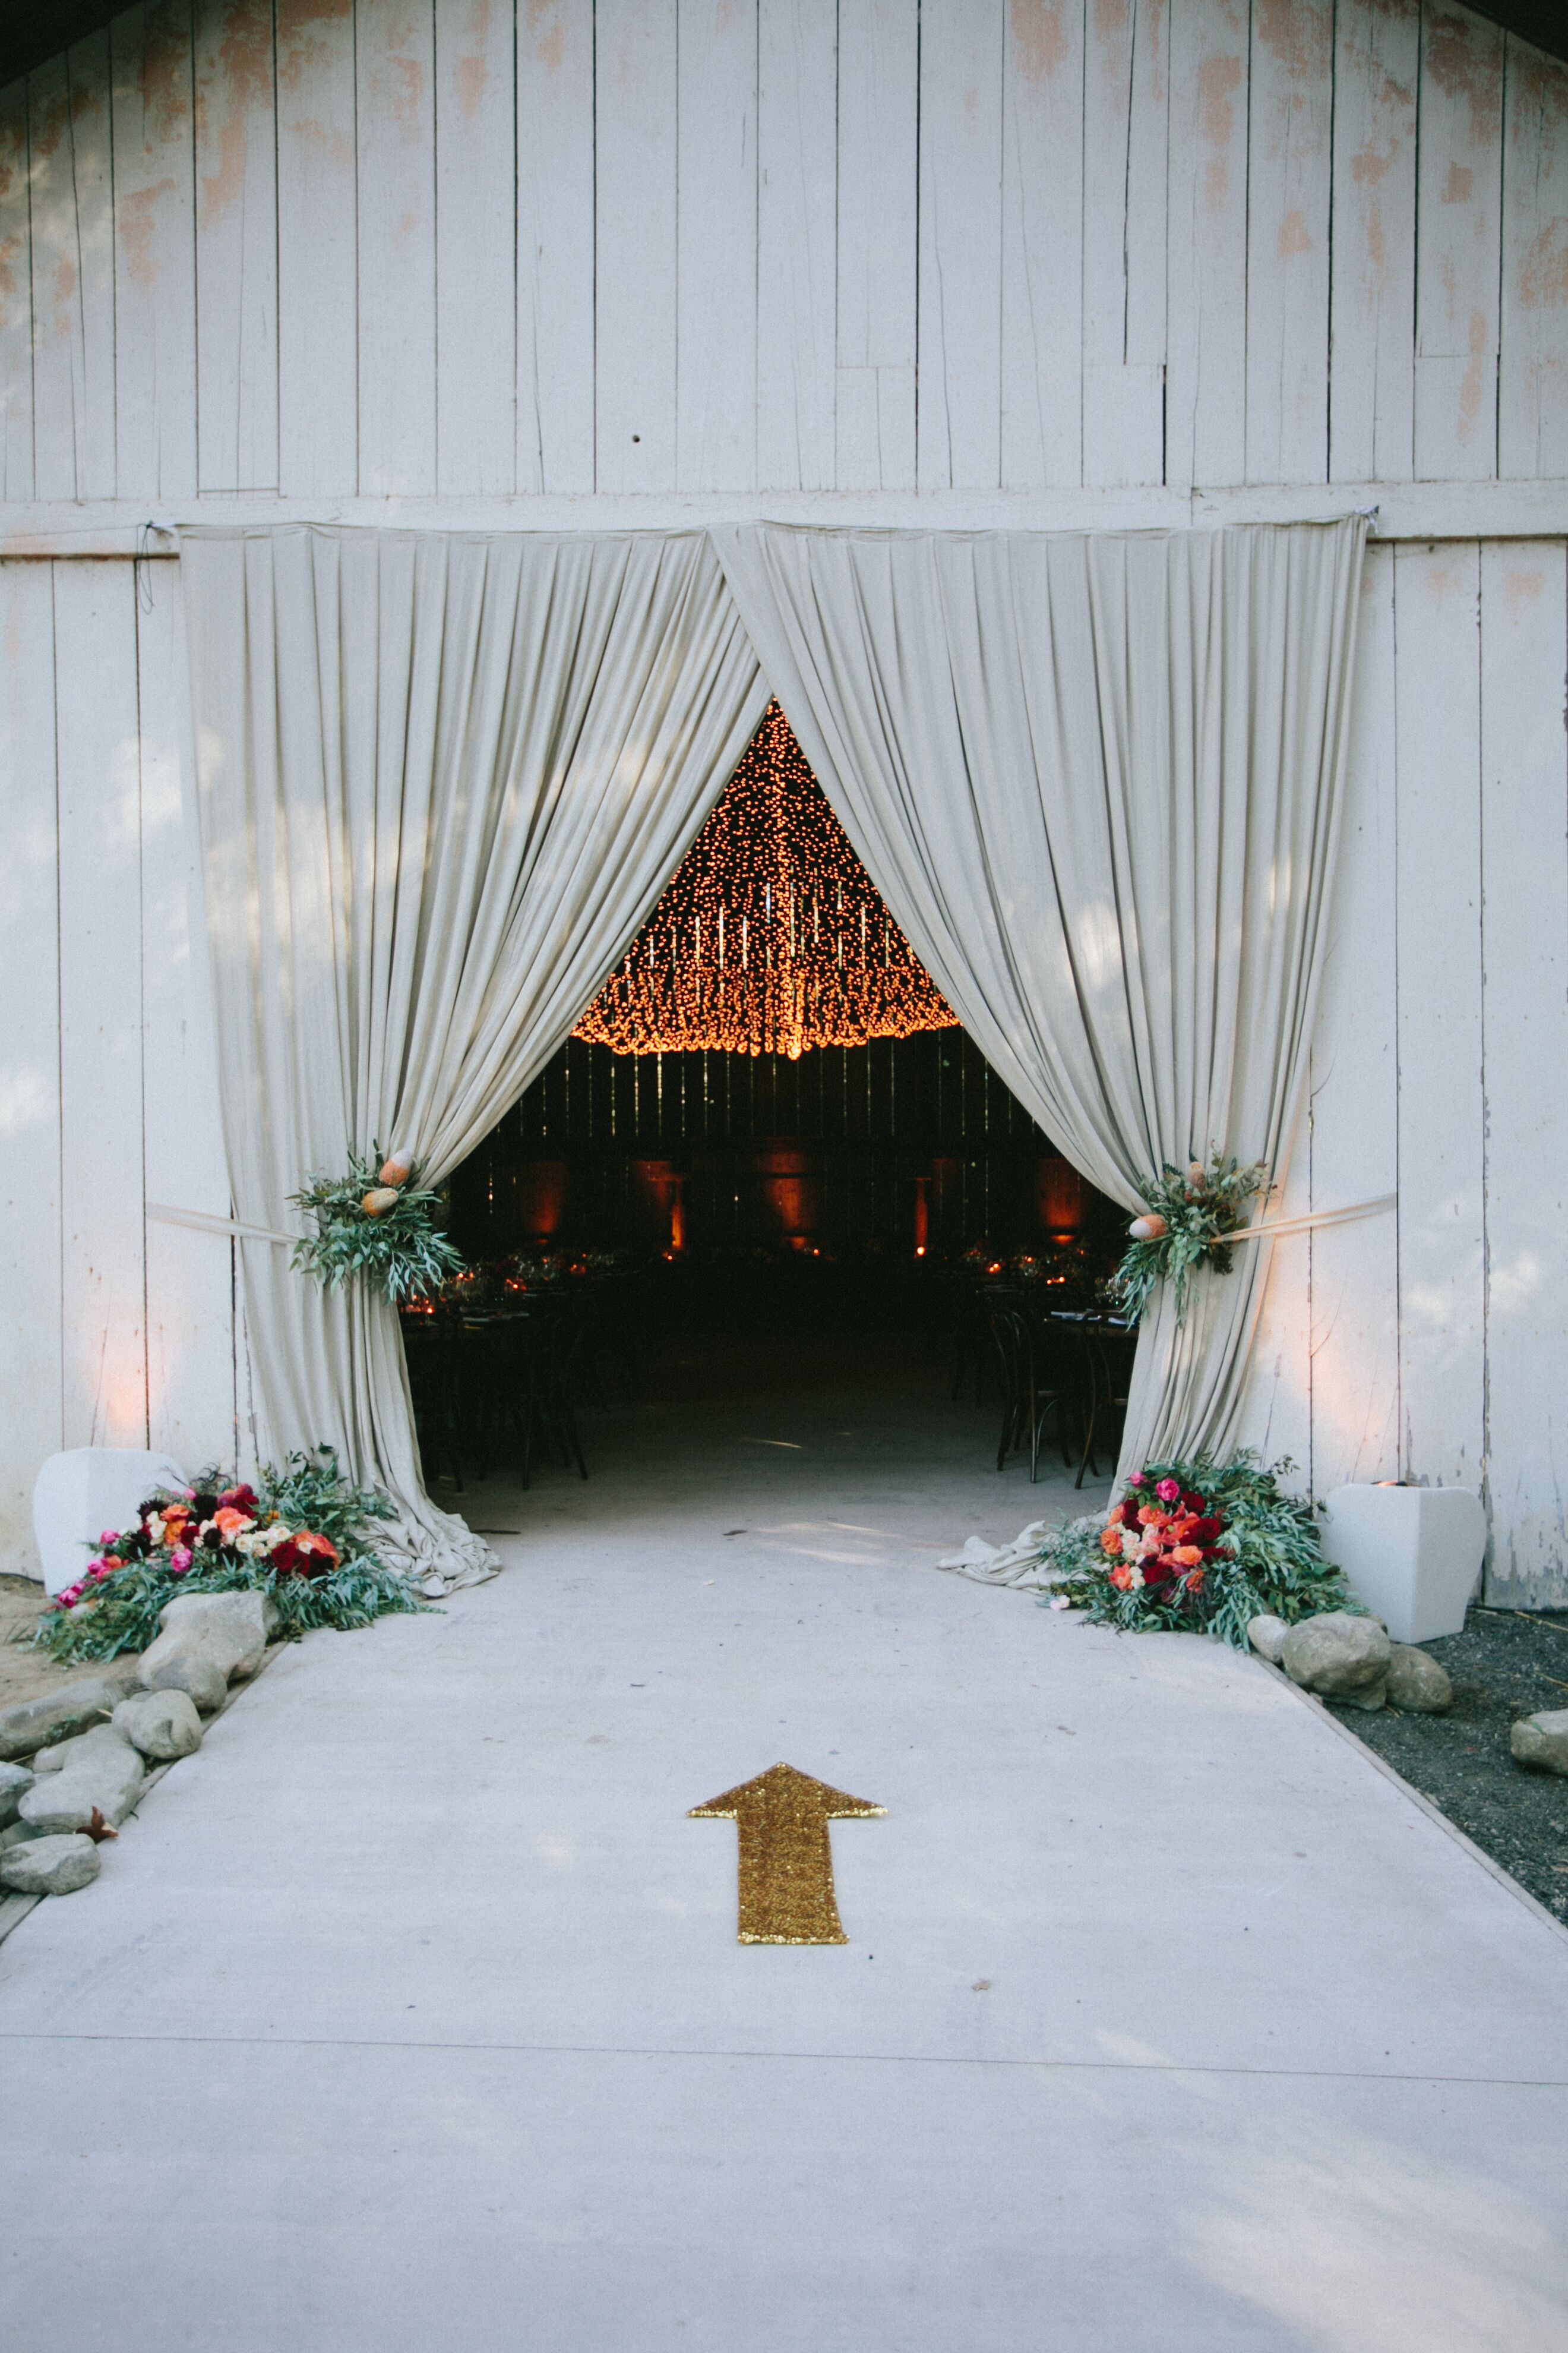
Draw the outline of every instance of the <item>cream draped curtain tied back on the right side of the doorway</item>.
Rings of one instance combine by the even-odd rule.
[[[1112,1200],[1284,1176],[1363,518],[1180,534],[715,529],[823,791],[987,1061]],[[1124,1468],[1237,1438],[1267,1245],[1145,1320]]]

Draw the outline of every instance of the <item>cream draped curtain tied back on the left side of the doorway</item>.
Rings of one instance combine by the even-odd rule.
[[[440,1181],[569,1035],[762,718],[701,532],[181,536],[235,1217],[350,1146]],[[421,1577],[489,1548],[423,1489],[397,1318],[240,1242],[263,1457],[329,1440]]]

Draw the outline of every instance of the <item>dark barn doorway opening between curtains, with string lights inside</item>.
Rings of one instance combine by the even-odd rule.
[[[1124,1219],[961,1031],[778,704],[449,1217],[465,1273],[404,1351],[428,1489],[477,1527],[736,1414],[766,1424],[736,1445],[875,1428],[999,1471],[1001,1520],[1016,1480],[1112,1468]]]

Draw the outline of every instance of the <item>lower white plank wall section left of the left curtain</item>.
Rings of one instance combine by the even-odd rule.
[[[141,607],[136,598],[141,569]],[[242,1442],[174,567],[0,562],[0,1567],[59,1447]]]

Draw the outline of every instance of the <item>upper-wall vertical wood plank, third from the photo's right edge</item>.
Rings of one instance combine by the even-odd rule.
[[[1333,52],[1335,482],[1415,464],[1415,87],[1420,0],[1340,0]]]

